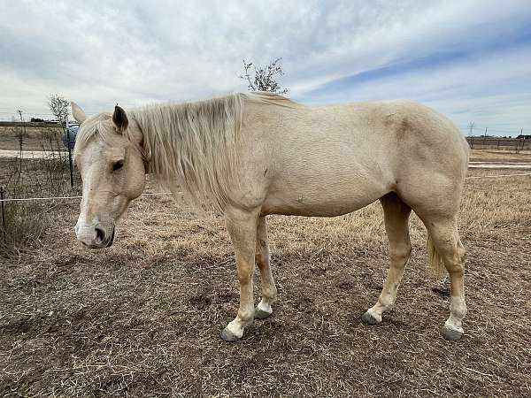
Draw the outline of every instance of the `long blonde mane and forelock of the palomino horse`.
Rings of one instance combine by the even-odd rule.
[[[126,134],[136,124],[143,137],[139,151],[164,188],[190,203],[225,208],[231,188],[238,188],[237,143],[245,101],[296,108],[299,104],[284,96],[256,92],[234,94],[189,103],[161,103],[127,111]],[[87,119],[76,137],[75,155],[98,134],[112,142],[116,134],[112,115],[100,113]],[[135,142],[132,136],[127,137]]]

